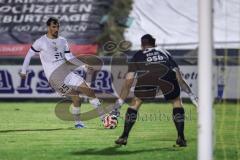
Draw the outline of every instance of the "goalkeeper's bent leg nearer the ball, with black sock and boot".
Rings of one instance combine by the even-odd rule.
[[[126,145],[129,133],[136,122],[138,110],[142,104],[142,100],[134,97],[131,102],[131,106],[128,107],[125,114],[124,130],[122,135],[115,141],[116,144]]]

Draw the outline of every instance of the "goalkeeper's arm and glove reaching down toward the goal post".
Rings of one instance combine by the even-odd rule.
[[[182,77],[180,69],[179,68],[174,68],[174,71],[176,72],[176,77],[177,77],[177,80],[178,80],[178,83],[179,83],[181,89],[188,94],[188,96],[191,99],[192,103],[196,107],[198,107],[198,98],[197,98],[197,96],[194,95],[194,93],[192,92],[191,88],[189,87],[187,82]]]

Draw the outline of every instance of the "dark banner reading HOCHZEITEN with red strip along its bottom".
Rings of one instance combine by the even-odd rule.
[[[47,31],[49,17],[60,20],[60,35],[72,52],[95,54],[101,19],[111,0],[0,0],[0,55],[22,56]]]

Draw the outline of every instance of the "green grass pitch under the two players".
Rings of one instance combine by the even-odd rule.
[[[125,147],[114,140],[123,129],[103,129],[99,119],[86,121],[87,128],[74,129],[73,122],[58,119],[55,103],[0,103],[0,160],[126,160],[126,159],[197,159],[197,113],[185,104],[185,134],[188,147],[176,148],[176,131],[171,120],[170,104],[146,103]],[[91,107],[82,105],[82,110]],[[126,106],[122,108],[122,115]],[[240,105],[223,103],[214,106],[216,160],[240,159]]]

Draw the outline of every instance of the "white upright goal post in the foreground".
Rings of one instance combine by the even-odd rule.
[[[198,0],[198,2],[199,2],[198,160],[212,160],[213,1]]]

